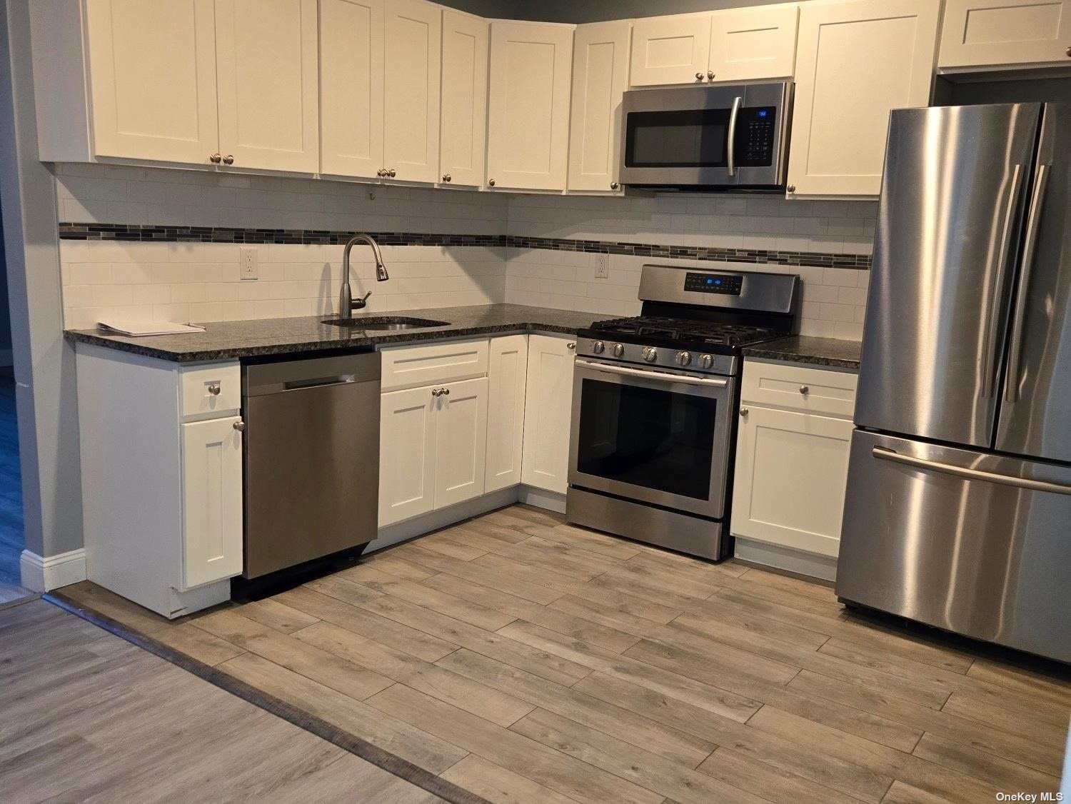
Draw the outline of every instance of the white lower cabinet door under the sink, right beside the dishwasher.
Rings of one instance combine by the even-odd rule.
[[[432,388],[379,398],[379,527],[435,507],[436,401]]]

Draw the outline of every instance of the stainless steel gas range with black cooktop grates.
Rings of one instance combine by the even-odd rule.
[[[639,299],[577,334],[565,518],[722,559],[741,349],[797,330],[799,276],[644,266]]]

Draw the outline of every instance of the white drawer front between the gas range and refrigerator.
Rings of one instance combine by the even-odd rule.
[[[745,360],[740,398],[744,404],[850,419],[858,380],[858,375],[847,371]]]

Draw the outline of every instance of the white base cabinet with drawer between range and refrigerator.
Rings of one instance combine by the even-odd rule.
[[[738,557],[832,579],[857,379],[744,361],[730,519]]]

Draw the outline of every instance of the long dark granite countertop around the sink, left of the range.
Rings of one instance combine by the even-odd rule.
[[[78,344],[119,349],[176,363],[236,360],[297,352],[331,352],[408,344],[465,335],[512,332],[560,332],[573,334],[606,316],[593,313],[529,307],[522,304],[481,304],[434,309],[369,310],[355,318],[405,316],[448,321],[444,327],[414,330],[360,330],[322,323],[323,316],[268,318],[254,321],[220,321],[205,324],[205,332],[183,335],[127,337],[99,330],[67,330],[64,335]]]

